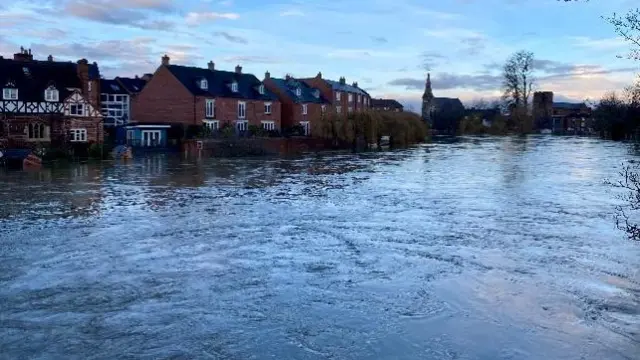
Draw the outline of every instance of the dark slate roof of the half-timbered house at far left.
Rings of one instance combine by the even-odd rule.
[[[67,88],[81,88],[76,66],[72,62],[0,59],[0,87],[12,82],[18,89],[18,101],[39,102],[45,100],[45,89],[53,85],[59,91],[59,101],[64,101],[72,93]]]

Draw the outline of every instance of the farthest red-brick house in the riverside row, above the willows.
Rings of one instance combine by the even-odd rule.
[[[325,99],[328,99],[336,113],[342,116],[354,111],[364,111],[371,107],[371,96],[369,93],[358,87],[354,82],[348,85],[345,78],[339,81],[322,78],[322,73],[318,73],[313,78],[300,79],[310,87],[319,89]]]

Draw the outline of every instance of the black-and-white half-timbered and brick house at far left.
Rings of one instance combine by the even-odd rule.
[[[20,49],[0,57],[0,146],[86,148],[103,141],[100,72],[77,63],[34,60]]]

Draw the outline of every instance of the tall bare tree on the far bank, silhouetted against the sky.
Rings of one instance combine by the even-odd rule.
[[[503,98],[509,105],[528,109],[533,93],[533,53],[521,50],[511,55],[503,67]]]

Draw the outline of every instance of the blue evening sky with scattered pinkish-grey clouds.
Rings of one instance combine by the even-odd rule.
[[[630,85],[640,62],[602,19],[636,0],[17,0],[0,3],[0,55],[86,58],[105,77],[172,64],[264,77],[358,82],[373,97],[420,109],[427,72],[436,97],[466,105],[500,95],[510,54],[532,51],[536,89],[555,101],[597,100]],[[622,56],[622,57],[620,57]]]

